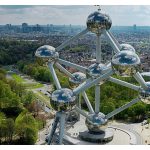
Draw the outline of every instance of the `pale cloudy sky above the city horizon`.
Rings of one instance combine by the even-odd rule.
[[[114,26],[150,26],[150,5],[148,6],[101,6],[109,14]],[[56,24],[86,25],[87,16],[97,10],[92,5],[4,5],[0,6],[0,24]]]

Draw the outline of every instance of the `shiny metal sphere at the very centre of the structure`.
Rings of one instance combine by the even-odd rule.
[[[108,67],[104,64],[95,63],[88,67],[87,74],[91,77],[98,77],[106,72]]]

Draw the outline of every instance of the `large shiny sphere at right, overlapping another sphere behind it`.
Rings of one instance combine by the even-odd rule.
[[[140,58],[132,51],[120,51],[112,58],[112,67],[119,75],[133,75],[140,69]]]

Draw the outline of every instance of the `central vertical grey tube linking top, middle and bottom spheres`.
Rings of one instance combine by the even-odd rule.
[[[100,35],[97,34],[96,42],[96,62],[101,63],[101,39]],[[100,108],[100,84],[95,85],[95,113],[99,113]]]

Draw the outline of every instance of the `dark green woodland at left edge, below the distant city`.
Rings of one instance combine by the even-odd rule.
[[[0,64],[11,65],[19,60],[31,61],[39,46],[38,42],[0,39]]]

